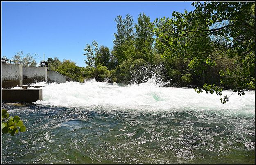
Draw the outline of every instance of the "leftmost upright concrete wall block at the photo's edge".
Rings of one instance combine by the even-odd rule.
[[[1,64],[2,88],[22,86],[22,64]]]

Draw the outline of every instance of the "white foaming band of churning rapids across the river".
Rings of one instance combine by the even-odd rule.
[[[159,87],[150,82],[120,86],[117,83],[96,82],[94,79],[84,83],[39,82],[34,85],[44,86],[40,88],[43,89],[43,100],[35,102],[42,105],[149,111],[211,109],[255,115],[255,91],[247,91],[244,96],[232,94],[232,91],[223,91],[222,96],[217,96],[206,94],[205,91],[198,94],[191,88]],[[227,103],[222,104],[220,98],[225,95],[231,97]]]

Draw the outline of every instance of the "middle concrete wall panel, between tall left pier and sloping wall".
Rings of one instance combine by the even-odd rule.
[[[23,69],[23,85],[39,81],[47,81],[46,67],[22,67]]]

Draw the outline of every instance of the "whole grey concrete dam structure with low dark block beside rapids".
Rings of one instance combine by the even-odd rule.
[[[3,102],[23,102],[31,103],[42,100],[42,89],[27,89],[26,85],[45,81],[66,83],[66,76],[59,74],[57,71],[48,71],[47,67],[28,67],[22,64],[1,64],[1,88],[22,87],[23,89],[1,89]],[[25,85],[25,86],[23,86]]]

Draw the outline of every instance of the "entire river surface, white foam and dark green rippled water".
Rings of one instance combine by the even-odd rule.
[[[255,163],[255,91],[222,104],[152,79],[35,85],[43,100],[2,103],[27,127],[2,134],[2,163]]]

